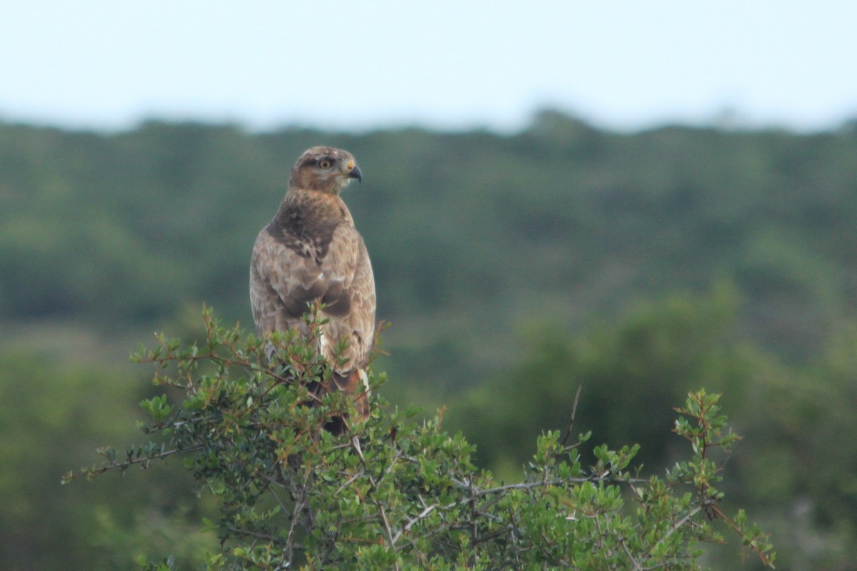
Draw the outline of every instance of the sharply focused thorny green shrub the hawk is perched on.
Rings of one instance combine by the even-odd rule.
[[[143,431],[159,439],[102,449],[104,465],[82,474],[182,455],[198,492],[219,504],[219,519],[203,520],[223,545],[205,557],[209,569],[696,569],[700,543],[722,541],[718,521],[773,566],[767,536],[720,508],[714,456],[737,437],[719,396],[701,390],[678,409],[674,430],[692,453],[663,477],[630,468],[637,446],[597,446],[586,466],[580,445],[589,436],[572,439],[569,426],[539,437],[523,481],[504,484],[474,465],[474,447],[442,431],[440,417],[415,423],[416,411],[381,398],[368,421],[333,437],[322,426],[351,404],[333,394],[309,406],[307,384],[330,374],[309,343],[245,337],[204,316],[205,342],[159,336],[135,357],[156,365],[156,384],[182,392],[175,405],[166,396],[141,403]],[[272,365],[266,342],[279,355]],[[175,567],[170,558],[139,563]]]

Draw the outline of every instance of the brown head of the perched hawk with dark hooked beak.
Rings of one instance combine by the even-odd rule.
[[[363,173],[350,152],[314,146],[304,151],[291,168],[289,188],[339,194],[352,178],[363,181]]]

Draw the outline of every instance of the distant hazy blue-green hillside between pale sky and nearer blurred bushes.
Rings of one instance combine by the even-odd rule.
[[[504,136],[148,122],[0,124],[0,320],[161,327],[205,301],[251,323],[256,232],[308,146],[343,146],[391,370],[469,382],[512,330],[733,281],[749,336],[800,359],[857,309],[857,131],[616,134],[554,112]]]

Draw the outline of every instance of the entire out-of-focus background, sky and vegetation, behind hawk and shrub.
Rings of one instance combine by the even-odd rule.
[[[857,568],[857,6],[365,4],[3,9],[0,568],[216,547],[181,461],[59,479],[145,441],[153,331],[251,328],[255,235],[318,144],[364,173],[389,401],[513,480],[579,384],[644,473],[723,391],[727,508],[780,568]]]

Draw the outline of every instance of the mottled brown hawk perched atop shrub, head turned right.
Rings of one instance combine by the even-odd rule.
[[[351,396],[362,419],[369,417],[365,367],[375,340],[375,277],[363,238],[339,193],[363,174],[350,152],[315,146],[291,169],[277,214],[256,237],[250,263],[250,305],[260,336],[297,330],[307,337],[303,315],[321,305],[321,336],[315,350],[331,363],[322,388]],[[338,348],[344,349],[339,352]],[[338,359],[339,358],[339,359]],[[328,430],[344,430],[334,420]]]

